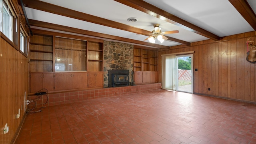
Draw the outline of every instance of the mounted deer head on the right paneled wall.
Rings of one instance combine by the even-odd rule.
[[[254,44],[254,41],[249,41],[250,38],[247,38],[246,40],[246,44],[247,44],[246,60],[252,64],[256,64],[256,44]]]

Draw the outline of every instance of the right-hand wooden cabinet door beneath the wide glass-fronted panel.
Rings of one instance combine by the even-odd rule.
[[[87,88],[87,72],[72,74],[72,88]]]

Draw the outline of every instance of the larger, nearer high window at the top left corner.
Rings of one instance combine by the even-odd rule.
[[[9,6],[0,0],[0,31],[7,36],[11,41],[12,38],[12,25],[13,25],[13,16],[10,12]]]

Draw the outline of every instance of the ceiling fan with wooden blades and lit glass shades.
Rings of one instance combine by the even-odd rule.
[[[161,28],[159,28],[160,24],[154,24],[154,28],[155,30],[152,31],[152,33],[150,34],[142,34],[142,35],[151,35],[148,38],[146,38],[145,40],[148,40],[151,43],[155,43],[156,39],[159,40],[162,44],[162,42],[164,42],[164,40],[167,40],[168,38],[166,36],[164,36],[164,34],[175,34],[175,33],[179,33],[178,30],[172,30],[172,31],[166,31],[166,32],[162,32]]]

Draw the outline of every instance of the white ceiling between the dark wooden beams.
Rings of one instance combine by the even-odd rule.
[[[26,0],[25,0],[26,1]],[[28,0],[29,1],[29,0]],[[135,8],[126,6],[114,0],[41,0],[71,10],[76,10],[85,14],[90,14],[100,18],[126,24],[135,28],[140,28],[147,31],[154,30],[153,24],[160,24],[162,31],[179,30],[178,34],[167,34],[172,38],[183,40],[185,42],[197,42],[207,40],[209,38],[192,32],[189,28],[183,28],[167,22],[164,18],[156,18],[152,15],[137,10]],[[190,22],[212,34],[219,37],[240,34],[244,32],[254,31],[252,26],[241,16],[241,14],[234,8],[228,0],[144,0],[174,16],[177,16],[187,22]],[[26,3],[26,2],[24,2]],[[251,8],[256,12],[256,0],[248,0]],[[26,4],[25,4],[26,6]],[[54,14],[53,12],[45,12],[34,8],[25,7],[28,19],[58,24],[61,26],[68,26],[78,28],[81,30],[88,30],[112,36],[119,36],[132,40],[144,41],[148,36],[138,35],[134,32],[120,30],[118,28],[111,28],[84,20],[78,20],[66,16]],[[137,22],[128,22],[130,17],[136,18]],[[31,26],[31,28],[52,30],[48,28],[40,28],[38,26]],[[56,30],[52,30],[56,31]],[[58,31],[60,32],[60,31]],[[64,32],[66,33],[66,32]],[[80,34],[81,35],[81,34]],[[86,35],[86,34],[85,34]],[[95,37],[95,36],[90,36]],[[101,38],[104,40],[112,40],[111,38]],[[120,40],[113,40],[120,41]],[[144,41],[148,42],[148,40]],[[128,41],[126,41],[128,43]],[[156,44],[160,44],[156,40]],[[164,46],[180,45],[178,42],[164,41]],[[152,46],[152,45],[151,45]],[[154,47],[154,46],[152,46]]]

